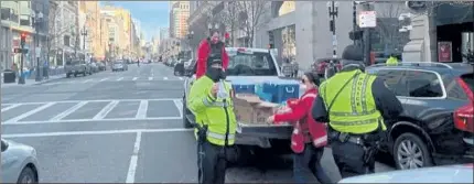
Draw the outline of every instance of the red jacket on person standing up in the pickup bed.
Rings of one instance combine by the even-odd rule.
[[[204,39],[201,41],[200,46],[197,47],[197,68],[196,68],[196,78],[200,78],[204,74],[206,74],[206,67],[207,67],[207,57],[209,56],[209,43],[207,42],[207,39]],[[229,64],[229,56],[227,55],[227,52],[225,50],[225,46],[223,46],[222,51],[222,59],[223,59],[223,68],[227,69],[227,66]]]

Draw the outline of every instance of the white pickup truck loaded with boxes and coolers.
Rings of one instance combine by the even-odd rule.
[[[230,83],[235,79],[248,79],[256,83],[283,77],[280,67],[269,50],[226,47],[229,55],[227,78]],[[183,96],[183,127],[192,128],[195,123],[194,115],[186,107],[186,95],[191,85],[195,80],[195,75],[188,75],[184,83]],[[261,150],[274,154],[290,153],[290,138],[292,128],[289,125],[267,125],[238,122],[236,134],[235,158],[231,162],[237,162],[247,153],[256,153]],[[258,151],[257,151],[258,150]],[[243,159],[244,160],[244,159]]]

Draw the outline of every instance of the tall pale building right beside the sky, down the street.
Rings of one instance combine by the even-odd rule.
[[[170,10],[170,36],[183,39],[187,34],[187,19],[190,18],[190,1],[179,1]]]

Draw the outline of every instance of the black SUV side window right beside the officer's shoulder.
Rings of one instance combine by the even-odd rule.
[[[405,80],[405,71],[381,69],[377,77],[384,79],[387,88],[397,96],[408,96],[407,84]]]

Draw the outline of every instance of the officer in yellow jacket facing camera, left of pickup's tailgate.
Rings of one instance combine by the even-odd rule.
[[[224,82],[220,59],[207,63],[206,75],[194,82],[187,108],[195,115],[198,182],[224,184],[227,152],[235,142],[237,120],[231,100],[231,85]]]

